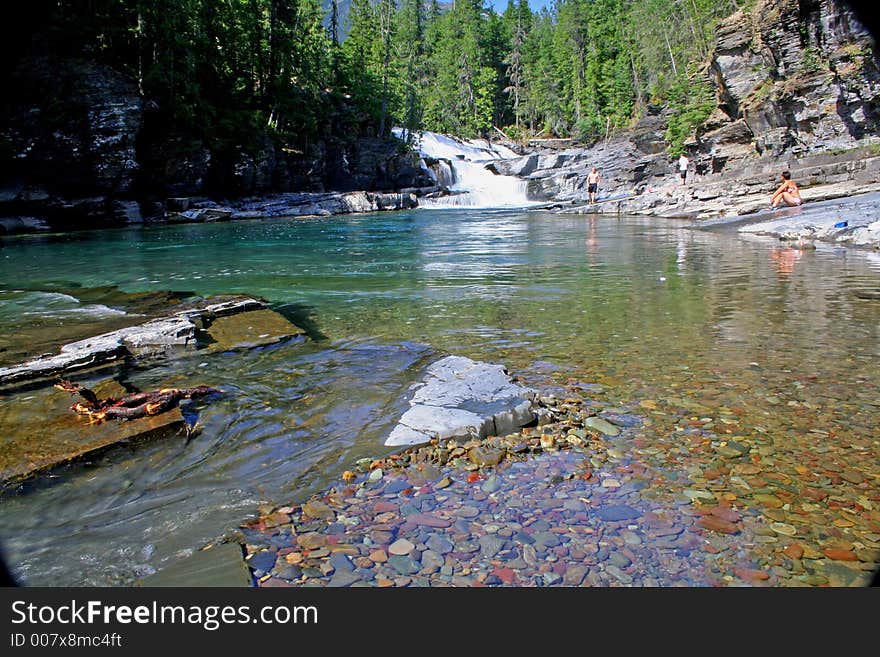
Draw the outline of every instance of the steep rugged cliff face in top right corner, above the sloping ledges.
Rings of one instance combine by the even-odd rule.
[[[716,171],[748,157],[841,151],[880,123],[875,43],[835,0],[761,0],[717,31],[718,108],[691,143]]]

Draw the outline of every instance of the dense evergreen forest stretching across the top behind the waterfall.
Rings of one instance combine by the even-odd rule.
[[[17,56],[80,57],[137,80],[155,124],[208,143],[302,143],[392,126],[605,138],[669,108],[674,153],[708,115],[699,69],[734,0],[35,0]],[[345,33],[345,39],[341,35]],[[9,60],[7,60],[9,61]]]

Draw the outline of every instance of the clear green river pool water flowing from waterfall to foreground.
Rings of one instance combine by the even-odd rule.
[[[0,250],[0,334],[14,345],[29,322],[56,321],[59,298],[46,292],[111,284],[260,295],[313,340],[125,373],[139,388],[229,394],[201,405],[189,441],[117,450],[0,501],[7,556],[31,584],[130,582],[258,504],[301,499],[384,453],[407,386],[446,352],[527,382],[599,384],[584,394],[613,406],[651,402],[638,407],[651,420],[640,449],[672,496],[708,467],[680,438],[710,418],[783,486],[807,463],[817,485],[837,487],[830,507],[778,511],[804,511],[817,544],[880,540],[880,303],[858,296],[880,289],[875,253],[794,251],[672,220],[486,210],[24,237]],[[3,404],[15,408],[7,432],[8,418],[40,412],[26,395]],[[858,483],[828,474],[852,469]],[[857,522],[820,527],[840,506]]]

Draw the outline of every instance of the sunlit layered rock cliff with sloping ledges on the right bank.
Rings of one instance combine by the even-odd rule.
[[[759,0],[723,21],[701,75],[717,106],[686,143],[688,185],[665,153],[668,109],[651,108],[633,131],[589,148],[499,162],[529,181],[536,200],[587,200],[590,212],[675,216],[742,214],[766,207],[789,169],[807,200],[880,189],[880,67],[876,43],[835,0]]]

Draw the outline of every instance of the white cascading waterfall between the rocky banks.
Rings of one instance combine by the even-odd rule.
[[[403,136],[403,130],[394,129]],[[436,132],[421,132],[416,137],[416,149],[426,157],[441,160],[440,175],[431,171],[437,184],[449,188],[449,196],[419,201],[422,207],[524,207],[531,205],[526,195],[527,183],[516,176],[499,176],[486,168],[493,160],[520,157],[511,149],[492,144],[485,139],[461,140]],[[446,171],[448,160],[451,171]],[[430,169],[429,169],[430,171]]]

